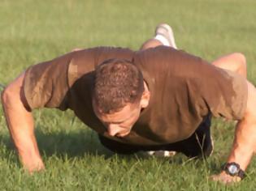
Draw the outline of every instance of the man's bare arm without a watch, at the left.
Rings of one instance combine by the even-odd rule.
[[[43,169],[44,164],[34,134],[33,115],[24,97],[23,81],[24,74],[21,74],[5,88],[2,105],[21,163],[33,172]]]

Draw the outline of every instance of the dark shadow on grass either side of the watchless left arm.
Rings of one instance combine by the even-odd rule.
[[[45,133],[41,129],[37,129],[36,137],[40,152],[46,157],[66,155],[68,158],[73,158],[84,155],[103,155],[109,158],[113,155],[111,151],[108,151],[98,142],[98,135],[88,130]],[[6,146],[7,152],[11,153],[15,150],[15,146],[7,134],[0,134],[0,140],[3,146]]]

